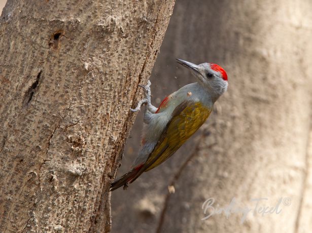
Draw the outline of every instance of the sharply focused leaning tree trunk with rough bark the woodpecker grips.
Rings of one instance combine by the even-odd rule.
[[[0,231],[105,232],[109,184],[174,0],[9,1],[0,20]],[[140,98],[140,96],[139,96]]]

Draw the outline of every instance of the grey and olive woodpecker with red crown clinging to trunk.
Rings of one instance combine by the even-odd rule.
[[[227,73],[221,66],[214,63],[195,65],[181,59],[177,62],[189,68],[197,82],[170,94],[158,108],[151,104],[151,82],[146,86],[139,85],[146,90],[145,98],[130,110],[138,111],[143,103],[147,104],[141,148],[130,171],[115,179],[110,191],[121,186],[126,189],[128,183],[143,172],[170,158],[206,121],[214,103],[227,90]]]

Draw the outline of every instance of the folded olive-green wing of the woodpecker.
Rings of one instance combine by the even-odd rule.
[[[167,123],[149,158],[131,182],[144,171],[149,171],[170,158],[198,130],[210,113],[211,109],[200,102],[182,102],[172,112],[171,120]]]

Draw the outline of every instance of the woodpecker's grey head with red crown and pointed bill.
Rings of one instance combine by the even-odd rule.
[[[214,63],[195,65],[181,59],[177,59],[177,62],[189,68],[197,78],[198,83],[207,88],[210,94],[217,98],[227,90],[227,74],[221,66]]]

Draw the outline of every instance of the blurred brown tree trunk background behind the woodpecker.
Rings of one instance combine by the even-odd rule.
[[[188,70],[176,70],[175,58],[220,64],[229,89],[197,137],[114,192],[114,232],[309,232],[311,11],[306,0],[177,2],[153,70],[154,100],[194,82]],[[123,172],[136,157],[137,133],[128,143]],[[176,193],[167,196],[172,180]],[[268,198],[259,206],[291,203],[285,199],[280,214],[251,212],[244,224],[239,213],[201,220],[206,199],[224,207],[234,197],[249,208],[257,198]]]

